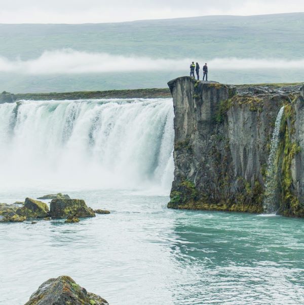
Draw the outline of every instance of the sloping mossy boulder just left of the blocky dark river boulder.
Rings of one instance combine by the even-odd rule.
[[[25,198],[24,206],[16,210],[16,214],[28,218],[45,218],[49,214],[49,207],[42,201]]]

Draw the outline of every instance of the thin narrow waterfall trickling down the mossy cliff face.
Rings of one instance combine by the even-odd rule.
[[[275,124],[273,137],[271,140],[270,154],[267,163],[267,176],[265,183],[265,199],[263,203],[264,211],[268,214],[275,213],[277,211],[276,204],[276,190],[277,190],[277,168],[276,168],[276,155],[279,144],[279,133],[282,116],[284,113],[284,106],[281,107]]]

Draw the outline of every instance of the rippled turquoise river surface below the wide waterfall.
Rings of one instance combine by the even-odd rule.
[[[304,303],[302,219],[173,211],[168,197],[131,191],[70,195],[112,213],[1,224],[1,304],[60,275],[111,305]]]

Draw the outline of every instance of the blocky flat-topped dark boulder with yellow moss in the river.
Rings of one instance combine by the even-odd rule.
[[[77,218],[96,216],[83,199],[53,199],[51,201],[50,216],[52,218],[64,219],[70,215]]]

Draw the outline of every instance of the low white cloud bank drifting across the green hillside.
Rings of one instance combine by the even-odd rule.
[[[70,49],[46,51],[39,58],[31,60],[9,60],[0,57],[0,72],[20,74],[82,74],[132,71],[188,71],[192,60],[201,65],[204,59],[152,59],[149,57],[119,56],[106,53],[79,52]],[[267,70],[304,69],[304,59],[253,59],[214,58],[208,61],[213,70]]]

